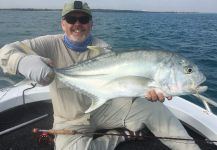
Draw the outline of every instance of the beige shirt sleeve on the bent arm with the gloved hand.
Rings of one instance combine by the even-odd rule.
[[[55,37],[49,35],[7,44],[0,49],[0,67],[4,73],[16,74],[20,59],[35,54],[48,58],[52,47]]]

